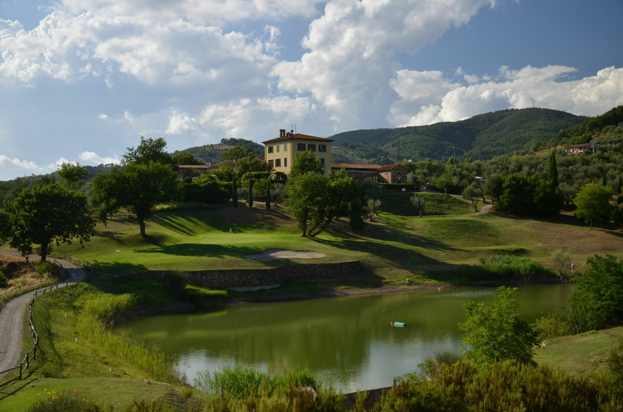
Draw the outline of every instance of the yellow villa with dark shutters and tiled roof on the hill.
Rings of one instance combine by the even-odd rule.
[[[285,129],[280,129],[278,138],[262,142],[265,145],[264,159],[275,167],[276,172],[289,174],[297,153],[313,150],[320,164],[325,167],[325,172],[330,172],[332,141],[333,139],[317,138],[292,131],[286,133]]]

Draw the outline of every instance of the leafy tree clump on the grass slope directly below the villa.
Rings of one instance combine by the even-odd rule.
[[[351,229],[363,230],[365,194],[342,170],[326,176],[310,171],[286,185],[285,204],[297,221],[302,236],[316,236],[336,218],[346,217]]]

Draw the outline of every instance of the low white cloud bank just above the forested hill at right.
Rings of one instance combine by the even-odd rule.
[[[554,65],[520,70],[502,66],[490,80],[483,77],[461,85],[440,73],[431,76],[429,72],[401,70],[393,83],[401,100],[392,105],[392,119],[397,126],[419,126],[533,105],[596,116],[623,104],[623,68],[604,68],[591,77],[565,80],[573,72],[573,67]]]

